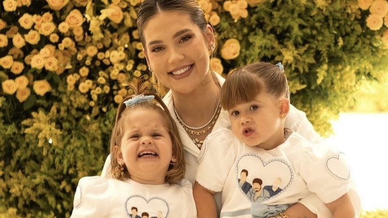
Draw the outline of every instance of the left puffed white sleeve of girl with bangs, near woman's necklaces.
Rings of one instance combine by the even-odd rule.
[[[198,156],[195,180],[203,187],[221,192],[235,158],[233,133],[226,128],[212,132],[204,141]]]

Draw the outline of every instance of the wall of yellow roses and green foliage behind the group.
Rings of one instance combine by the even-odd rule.
[[[282,62],[291,103],[322,134],[387,73],[387,0],[198,0],[217,32],[212,70]],[[3,0],[0,217],[69,217],[78,180],[108,155],[120,84],[145,75],[141,0]]]

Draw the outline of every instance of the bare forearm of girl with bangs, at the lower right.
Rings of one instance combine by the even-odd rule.
[[[326,203],[333,213],[333,218],[355,218],[356,212],[349,193],[344,194],[334,202]]]

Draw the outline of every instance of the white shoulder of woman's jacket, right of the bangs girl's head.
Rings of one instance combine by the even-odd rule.
[[[290,111],[286,117],[285,127],[299,133],[310,142],[319,143],[323,140],[315,131],[314,126],[308,121],[306,113],[292,105],[290,105]]]

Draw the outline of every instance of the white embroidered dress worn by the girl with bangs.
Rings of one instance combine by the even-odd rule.
[[[253,186],[255,178],[261,179],[261,195],[255,197],[253,187],[245,190],[240,187],[243,169],[248,171],[249,185]],[[273,190],[277,178],[281,178],[280,189],[271,194],[267,190]],[[283,144],[266,151],[242,143],[225,128],[207,137],[198,156],[196,181],[212,191],[222,191],[222,218],[251,218],[253,202],[295,203],[311,192],[325,203],[333,202],[349,191],[350,171],[343,153],[328,145],[313,145],[298,133],[292,133]],[[318,214],[320,218],[326,216]]]

